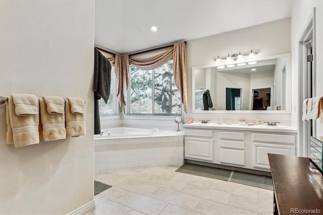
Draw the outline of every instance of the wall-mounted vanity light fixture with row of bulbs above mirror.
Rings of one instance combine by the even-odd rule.
[[[251,49],[250,53],[247,53],[245,55],[242,55],[241,52],[239,51],[239,54],[234,53],[232,56],[228,54],[228,57],[226,58],[219,58],[218,56],[218,58],[214,59],[214,61],[216,62],[216,66],[218,66],[218,69],[224,68],[224,67],[219,68],[219,66],[222,66],[223,64],[225,65],[237,64],[237,66],[246,65],[247,62],[249,62],[248,64],[256,64],[257,62],[256,62],[255,55],[257,54],[258,52],[253,52]],[[223,60],[225,60],[225,63],[222,63]]]

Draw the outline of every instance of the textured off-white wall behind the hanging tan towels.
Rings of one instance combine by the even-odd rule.
[[[0,93],[82,97],[86,135],[15,148],[0,106],[0,214],[66,214],[93,200],[94,1],[0,1]]]

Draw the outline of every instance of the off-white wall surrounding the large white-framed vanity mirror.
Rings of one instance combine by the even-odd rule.
[[[250,49],[259,52],[257,57],[273,56],[281,53],[288,53],[290,48],[290,19],[278,20],[275,22],[256,25],[235,31],[217,34],[200,39],[190,40],[186,44],[187,61],[187,86],[188,86],[188,115],[194,119],[207,118],[217,120],[217,118],[230,117],[238,119],[260,118],[263,120],[281,120],[287,125],[290,124],[290,114],[266,115],[266,114],[192,114],[192,94],[191,94],[191,68],[195,66],[214,64],[214,59],[219,55],[221,58],[228,56],[228,53],[249,53]],[[248,93],[249,95],[249,93]],[[219,104],[217,104],[219,105]]]

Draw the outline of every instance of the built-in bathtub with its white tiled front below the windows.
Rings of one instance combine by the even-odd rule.
[[[118,127],[94,135],[95,172],[183,163],[184,132]]]

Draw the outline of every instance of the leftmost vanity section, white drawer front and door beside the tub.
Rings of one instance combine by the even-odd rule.
[[[184,158],[213,162],[213,131],[185,129]]]

